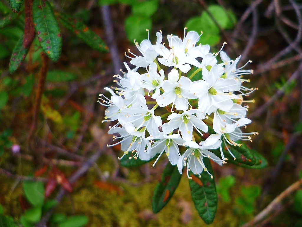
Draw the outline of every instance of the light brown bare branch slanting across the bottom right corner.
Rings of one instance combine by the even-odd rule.
[[[302,184],[302,179],[296,181],[291,186],[289,186],[286,190],[284,190],[280,195],[278,195],[268,206],[263,209],[252,221],[242,225],[241,227],[249,227],[253,226],[263,219],[265,219],[271,212],[274,212],[276,207],[282,202],[282,200],[288,197],[291,193],[300,189]]]

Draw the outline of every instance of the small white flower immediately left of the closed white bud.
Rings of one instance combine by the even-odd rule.
[[[159,70],[159,75],[156,69],[156,63],[150,62],[149,72],[141,75],[142,87],[146,88],[149,91],[148,96],[150,96],[150,91],[155,90],[155,92],[153,92],[153,95],[151,96],[152,99],[156,99],[160,95],[160,87],[162,86],[165,79],[164,70]]]

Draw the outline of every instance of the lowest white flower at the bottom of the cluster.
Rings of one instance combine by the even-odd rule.
[[[190,141],[186,142],[185,145],[189,146],[190,148],[188,148],[185,153],[181,155],[178,160],[177,167],[179,173],[182,173],[182,169],[185,165],[187,167],[188,178],[191,178],[188,174],[190,170],[194,174],[200,174],[202,171],[206,171],[208,174],[210,174],[207,170],[207,167],[204,165],[204,157],[210,158],[219,165],[222,165],[222,160],[220,160],[220,158],[212,152],[208,151],[208,149],[218,148],[220,146],[219,143],[216,142],[210,146],[207,146],[207,141],[201,141],[199,145],[193,141]],[[210,176],[213,178],[212,174],[210,174]]]

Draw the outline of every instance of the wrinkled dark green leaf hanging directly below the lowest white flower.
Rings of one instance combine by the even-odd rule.
[[[203,161],[207,170],[214,176],[210,160],[204,158]],[[217,193],[214,177],[211,178],[206,171],[202,171],[200,176],[189,171],[189,176],[192,177],[192,179],[189,179],[189,185],[195,208],[202,220],[209,225],[213,222],[217,210]]]

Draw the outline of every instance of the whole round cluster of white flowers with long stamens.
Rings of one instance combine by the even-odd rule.
[[[249,82],[242,75],[252,70],[236,68],[240,57],[231,60],[222,48],[213,54],[209,45],[196,45],[200,35],[195,31],[186,34],[185,28],[183,40],[168,35],[169,48],[162,44],[161,31],[156,36],[153,45],[149,31],[148,40],[140,45],[134,41],[142,54],[136,56],[128,50],[133,54],[130,63],[136,67],[131,70],[124,63],[128,72],[114,76],[118,86],[105,88],[111,98],[100,94],[99,102],[108,106],[105,119],[118,121],[108,131],[119,134],[113,136],[113,141],[118,141],[109,146],[121,144],[121,158],[132,152],[135,159],[150,160],[159,153],[154,164],[165,152],[180,173],[184,165],[194,174],[207,171],[203,157],[222,165],[227,160],[224,149],[235,159],[228,146],[222,144],[241,146],[235,141],[250,140],[250,135],[256,133],[242,133],[239,129],[251,122],[245,117],[248,106],[242,103],[253,102],[243,101],[243,96],[255,89],[242,85]],[[218,55],[222,63],[218,63]],[[145,73],[140,74],[139,69]],[[192,82],[198,72],[202,72],[202,79]],[[215,133],[204,140],[202,132],[207,132],[208,126]],[[186,148],[183,154],[180,146]],[[217,148],[221,158],[209,151]]]

